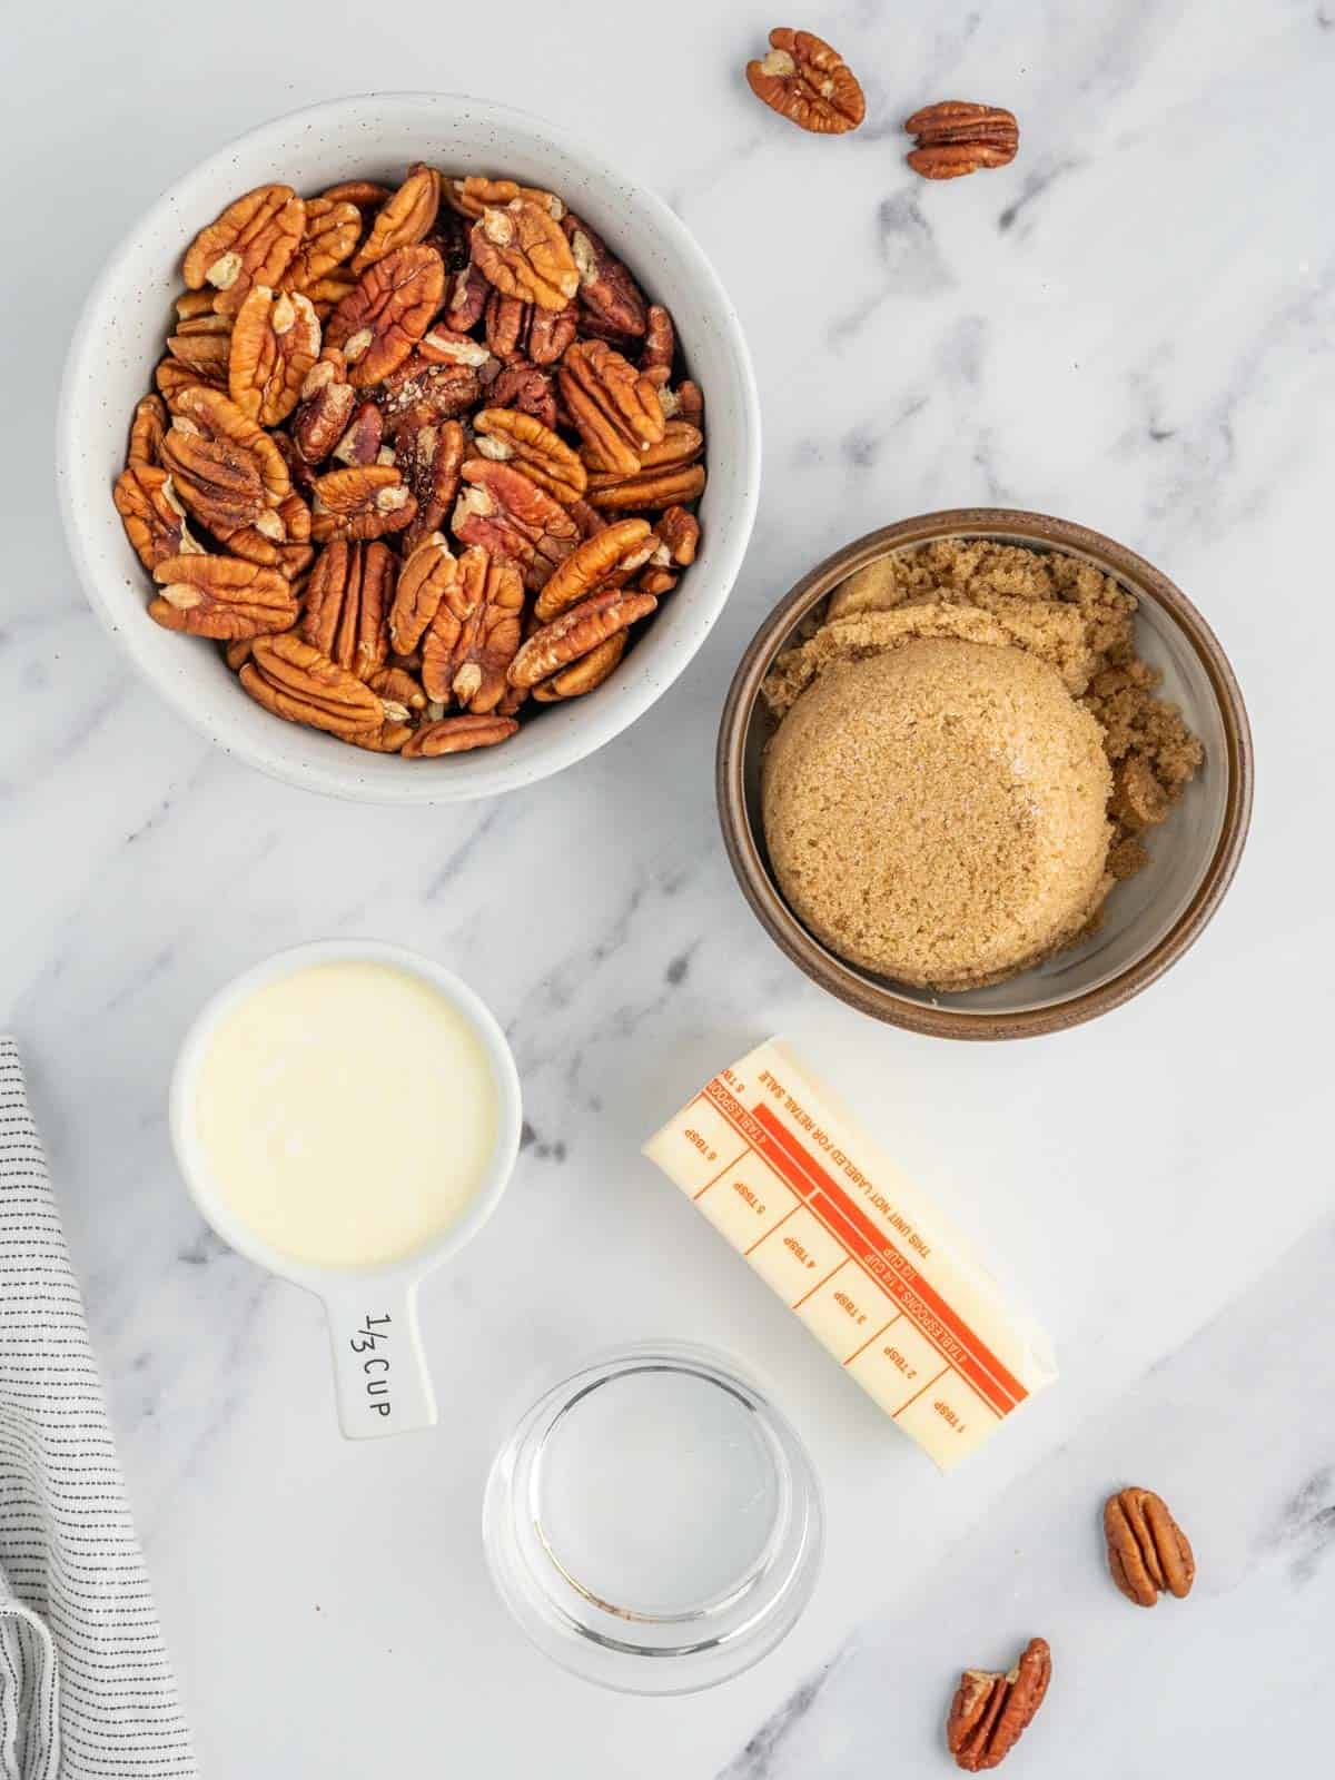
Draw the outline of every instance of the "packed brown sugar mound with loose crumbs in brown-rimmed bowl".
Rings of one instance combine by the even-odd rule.
[[[764,696],[771,862],[831,951],[922,988],[1070,945],[1202,762],[1086,562],[940,539],[860,570]]]

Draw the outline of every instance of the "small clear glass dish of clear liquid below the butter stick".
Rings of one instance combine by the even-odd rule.
[[[491,1467],[482,1540],[525,1634],[625,1693],[694,1693],[810,1600],[824,1517],[773,1403],[705,1347],[650,1342],[554,1385]]]

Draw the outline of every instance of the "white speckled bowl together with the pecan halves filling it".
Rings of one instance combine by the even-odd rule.
[[[57,473],[94,609],[212,740],[447,803],[671,685],[740,566],[760,420],[653,194],[522,112],[372,94],[251,132],[135,226]]]

